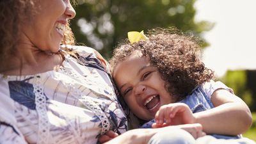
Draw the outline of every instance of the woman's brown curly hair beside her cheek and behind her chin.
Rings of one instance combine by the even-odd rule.
[[[40,0],[8,0],[0,1],[0,65],[17,52],[17,42],[21,33],[22,22],[31,20],[36,13],[36,1]],[[72,1],[76,3],[75,0]],[[62,44],[74,44],[74,35],[67,25]]]

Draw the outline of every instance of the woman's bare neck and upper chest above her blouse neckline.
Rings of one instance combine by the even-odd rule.
[[[6,63],[0,68],[1,74],[22,76],[39,74],[54,70],[61,65],[63,58],[60,54],[40,51],[36,47],[24,47],[26,44],[20,44],[17,48],[17,54],[6,58]]]

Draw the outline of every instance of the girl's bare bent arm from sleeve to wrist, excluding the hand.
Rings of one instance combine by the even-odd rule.
[[[206,133],[237,135],[252,124],[248,106],[236,95],[224,89],[212,93],[215,108],[195,113],[195,123],[203,125]]]

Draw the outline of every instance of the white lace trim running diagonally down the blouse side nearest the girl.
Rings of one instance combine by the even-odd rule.
[[[61,72],[64,74],[68,74],[68,76],[73,77],[74,79],[81,79],[81,77],[77,76],[76,73],[74,73],[72,70],[69,68],[63,68],[61,67],[59,69]],[[109,131],[110,124],[108,117],[106,114],[102,111],[102,109],[99,107],[98,104],[96,104],[91,97],[83,97],[82,92],[74,85],[74,83],[64,83],[65,86],[67,86],[68,90],[70,91],[70,94],[72,97],[75,97],[76,99],[79,99],[86,108],[90,109],[93,111],[93,113],[98,116],[100,119],[100,122],[102,124],[102,130],[100,134],[105,134],[107,131]]]

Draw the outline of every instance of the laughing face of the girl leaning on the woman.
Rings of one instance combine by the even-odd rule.
[[[145,56],[131,54],[116,65],[113,77],[132,113],[143,120],[152,120],[160,106],[174,102]]]

